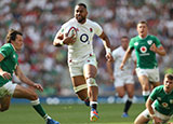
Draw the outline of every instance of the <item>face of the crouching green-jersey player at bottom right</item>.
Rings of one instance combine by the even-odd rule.
[[[167,93],[170,93],[172,89],[173,89],[173,80],[165,78],[164,79],[164,91]]]

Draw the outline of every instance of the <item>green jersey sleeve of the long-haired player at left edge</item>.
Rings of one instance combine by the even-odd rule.
[[[12,49],[11,49],[10,45],[8,45],[8,44],[4,44],[4,45],[0,49],[0,54],[2,54],[3,57],[9,56],[11,52],[12,52]]]

